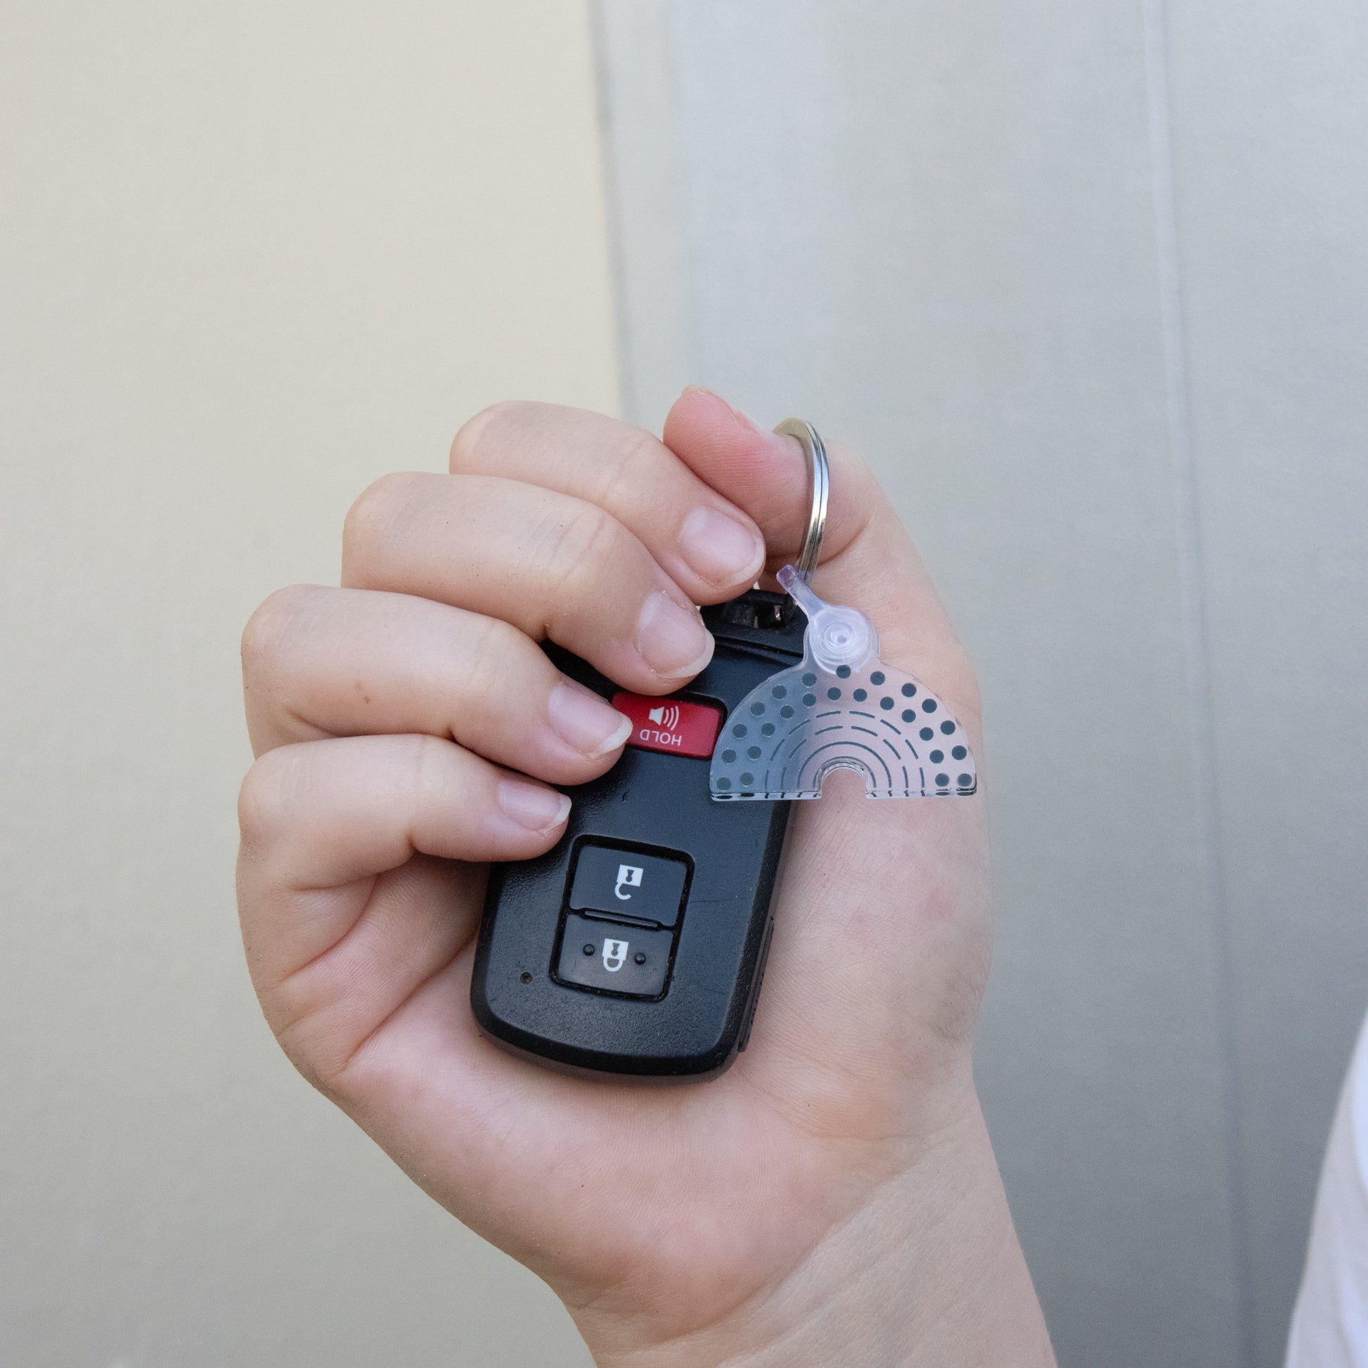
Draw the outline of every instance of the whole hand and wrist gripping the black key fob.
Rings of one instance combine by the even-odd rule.
[[[867,471],[832,464],[814,588],[978,743],[917,553]],[[1048,1364],[970,1068],[981,796],[870,803],[837,774],[796,804],[750,1048],[720,1079],[562,1077],[471,1015],[486,862],[549,850],[569,806],[549,785],[628,735],[535,643],[683,687],[711,653],[692,605],[791,560],[807,503],[796,443],[702,390],[663,442],[501,405],[450,475],[372,486],[345,587],[274,595],[244,639],[252,978],[300,1071],[543,1276],[601,1364]]]

